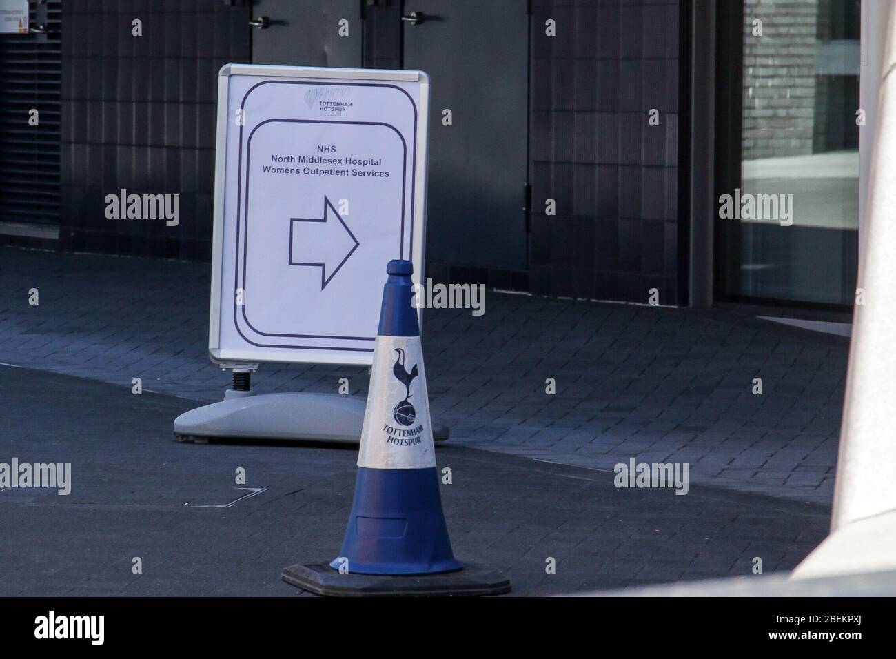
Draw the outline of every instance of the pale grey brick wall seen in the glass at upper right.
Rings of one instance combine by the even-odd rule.
[[[818,20],[814,0],[745,0],[745,160],[813,152]]]

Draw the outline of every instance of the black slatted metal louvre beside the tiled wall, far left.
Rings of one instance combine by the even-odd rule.
[[[61,5],[30,2],[30,25],[45,34],[0,35],[0,233],[59,223]]]

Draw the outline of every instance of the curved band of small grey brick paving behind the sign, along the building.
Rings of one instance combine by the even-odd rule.
[[[0,249],[0,362],[220,400],[209,279],[207,264]],[[683,462],[692,483],[831,502],[848,339],[726,310],[488,291],[484,316],[426,311],[424,347],[454,445],[603,471]],[[254,387],[335,393],[340,377],[366,394],[366,369],[320,365],[263,365]]]

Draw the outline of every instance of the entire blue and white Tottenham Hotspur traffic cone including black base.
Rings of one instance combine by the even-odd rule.
[[[439,493],[409,261],[390,261],[358,477],[340,555],[283,579],[317,594],[500,594],[510,582],[454,559]]]

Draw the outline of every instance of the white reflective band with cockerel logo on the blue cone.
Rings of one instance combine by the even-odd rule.
[[[435,467],[419,336],[377,336],[358,466]]]

